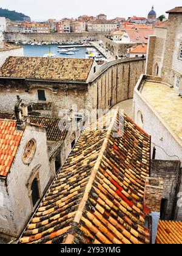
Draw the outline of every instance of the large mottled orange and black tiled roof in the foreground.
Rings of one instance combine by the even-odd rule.
[[[149,243],[149,166],[149,135],[120,110],[110,112],[81,133],[19,243]]]

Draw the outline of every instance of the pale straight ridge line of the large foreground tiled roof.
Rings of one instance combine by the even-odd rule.
[[[101,160],[103,158],[104,151],[106,150],[107,143],[109,141],[110,134],[112,132],[112,128],[115,124],[116,117],[117,117],[118,113],[119,113],[119,107],[117,107],[115,112],[113,113],[112,120],[110,122],[109,128],[106,133],[106,138],[104,138],[104,141],[103,141],[103,146],[101,147],[98,158],[95,162],[95,165],[93,166],[93,169],[90,174],[89,181],[87,182],[83,197],[81,199],[81,202],[79,203],[78,210],[76,211],[76,214],[75,214],[75,218],[73,219],[73,222],[76,222],[78,224],[79,224],[79,221],[81,220],[81,217],[83,216],[83,211],[84,211],[84,208],[86,207],[86,202],[89,199],[89,193],[90,193],[90,190],[92,189],[93,181],[95,180],[96,173],[98,172],[98,168],[99,168]],[[69,234],[69,235],[67,235],[65,244],[72,244],[73,240],[74,240],[74,234]]]

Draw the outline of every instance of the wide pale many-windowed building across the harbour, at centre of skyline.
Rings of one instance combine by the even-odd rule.
[[[112,20],[90,20],[87,22],[88,32],[110,32],[117,29],[117,22]]]

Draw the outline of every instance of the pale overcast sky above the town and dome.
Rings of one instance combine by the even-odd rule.
[[[154,9],[157,16],[165,14],[176,6],[181,6],[181,0],[0,0],[0,7],[16,10],[30,16],[34,21],[44,21],[49,18],[77,18],[81,15],[96,16],[105,13],[108,19],[116,17],[147,16]]]

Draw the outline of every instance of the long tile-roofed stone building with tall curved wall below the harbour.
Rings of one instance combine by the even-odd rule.
[[[9,57],[0,68],[0,109],[12,113],[18,93],[41,116],[58,118],[61,110],[73,110],[74,119],[84,118],[132,99],[145,63],[123,59],[99,67],[90,59]]]

